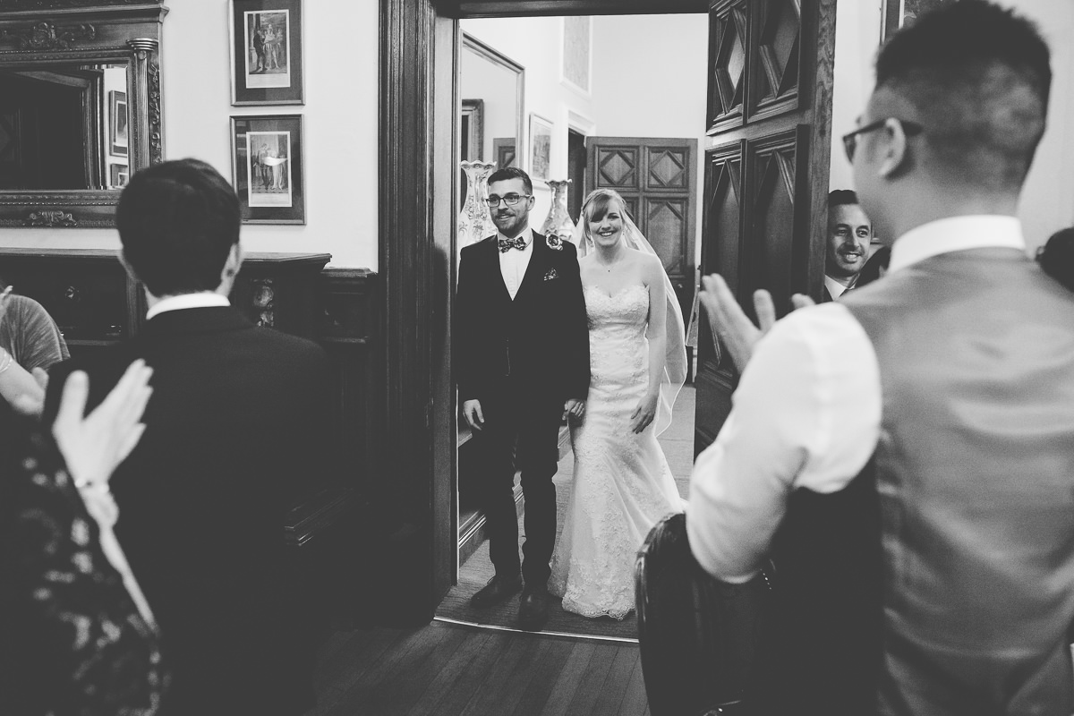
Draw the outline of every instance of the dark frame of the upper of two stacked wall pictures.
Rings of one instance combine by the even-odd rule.
[[[305,0],[228,0],[232,106],[305,104]],[[247,50],[245,13],[288,12],[288,87],[249,87],[240,58]],[[241,43],[241,44],[240,44]],[[242,47],[242,50],[240,49]]]

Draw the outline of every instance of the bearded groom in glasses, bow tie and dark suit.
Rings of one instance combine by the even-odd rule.
[[[514,167],[493,173],[488,205],[498,232],[463,248],[454,317],[459,399],[488,459],[478,494],[496,569],[470,603],[492,607],[521,588],[520,625],[539,630],[555,545],[560,425],[585,407],[589,327],[574,244],[529,228],[529,176]],[[525,498],[521,565],[516,467]]]

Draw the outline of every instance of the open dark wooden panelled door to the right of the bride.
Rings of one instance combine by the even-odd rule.
[[[712,0],[702,274],[726,278],[753,316],[757,289],[782,316],[818,297],[831,155],[836,0]],[[738,375],[698,332],[695,454],[727,413]]]

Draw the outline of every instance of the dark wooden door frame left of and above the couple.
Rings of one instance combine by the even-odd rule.
[[[834,2],[834,0],[819,0]],[[450,371],[454,287],[454,105],[463,17],[707,13],[708,0],[379,0],[378,261],[383,287],[383,436],[378,480],[396,515],[382,559],[403,579],[384,590],[396,622],[427,622],[453,579],[455,398]],[[700,90],[699,90],[700,91]],[[830,88],[828,102],[830,105]],[[818,156],[826,156],[821,149]],[[814,209],[826,192],[815,192]],[[823,214],[822,214],[823,216]],[[815,235],[815,234],[814,234]],[[823,257],[823,254],[821,254]],[[811,255],[811,274],[815,258]],[[823,268],[823,262],[822,262]],[[441,534],[444,532],[444,534]],[[448,576],[447,572],[452,575]]]

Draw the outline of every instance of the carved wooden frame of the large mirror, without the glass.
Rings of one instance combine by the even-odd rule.
[[[0,69],[127,64],[128,171],[163,159],[160,0],[5,0]],[[119,189],[2,190],[0,228],[115,227]]]

